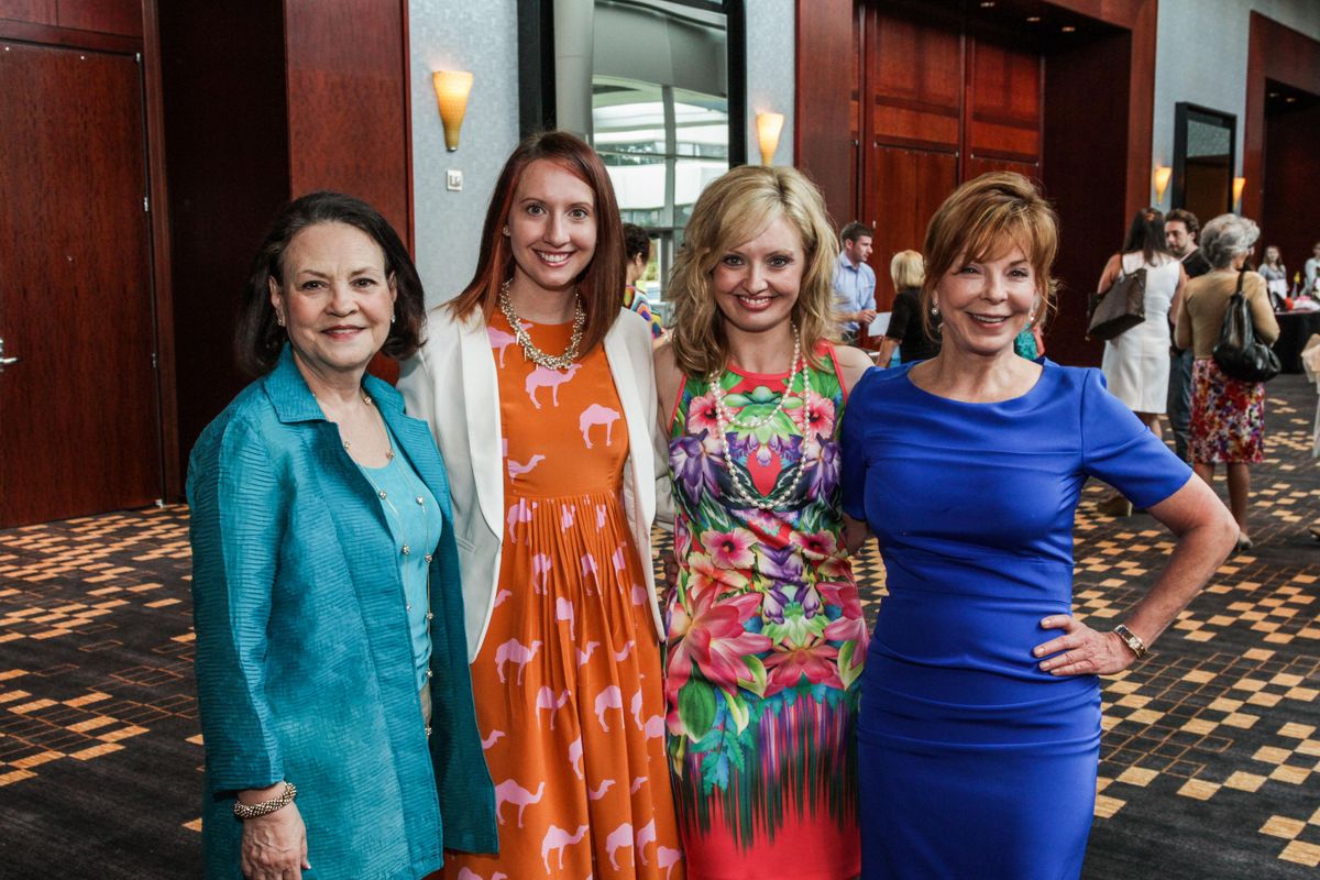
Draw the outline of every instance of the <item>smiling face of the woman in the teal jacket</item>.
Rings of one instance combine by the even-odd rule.
[[[389,336],[395,280],[376,241],[347,223],[317,223],[289,241],[271,305],[294,355],[319,376],[367,368]]]

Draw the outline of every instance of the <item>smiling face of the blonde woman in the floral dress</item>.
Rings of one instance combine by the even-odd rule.
[[[710,273],[715,305],[743,332],[777,327],[792,317],[805,267],[801,235],[779,215],[755,239],[719,256]]]

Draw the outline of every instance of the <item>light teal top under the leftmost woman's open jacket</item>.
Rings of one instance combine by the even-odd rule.
[[[399,446],[392,433],[389,433],[389,446],[391,449]],[[421,690],[430,666],[430,621],[426,619],[429,569],[444,534],[445,517],[440,512],[436,496],[403,455],[391,456],[384,467],[358,463],[358,468],[376,489],[380,511],[385,515],[389,534],[395,538],[399,579],[404,584],[408,632],[412,635],[413,664],[417,670],[417,690]]]

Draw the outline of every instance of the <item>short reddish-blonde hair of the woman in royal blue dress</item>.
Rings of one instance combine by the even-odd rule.
[[[944,201],[925,231],[921,322],[931,330],[931,303],[954,263],[994,260],[1022,248],[1036,276],[1040,306],[1035,323],[1055,307],[1049,268],[1059,252],[1059,219],[1036,185],[1022,174],[993,172],[968,181]]]

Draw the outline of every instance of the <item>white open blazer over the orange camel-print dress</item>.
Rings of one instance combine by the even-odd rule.
[[[642,557],[655,635],[660,639],[664,624],[651,569],[651,524],[657,504],[669,508],[669,467],[667,458],[660,458],[667,445],[656,421],[655,365],[645,319],[620,310],[605,336],[605,356],[628,425],[623,507]],[[445,458],[463,575],[467,660],[473,662],[495,611],[504,540],[499,376],[484,318],[474,313],[466,321],[455,321],[447,306],[432,309],[426,342],[403,363],[399,391],[408,414],[430,425]]]

